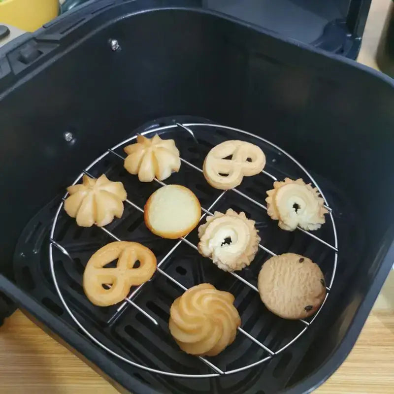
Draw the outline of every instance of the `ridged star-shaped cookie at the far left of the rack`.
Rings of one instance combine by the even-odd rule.
[[[77,225],[91,227],[106,226],[123,215],[123,201],[127,193],[122,182],[112,182],[104,174],[98,179],[87,175],[82,177],[82,184],[67,188],[69,197],[65,201],[65,210],[76,218]]]

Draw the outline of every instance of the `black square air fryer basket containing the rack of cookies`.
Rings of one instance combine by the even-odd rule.
[[[8,45],[5,57],[0,53],[0,149],[7,169],[1,172],[5,193],[0,195],[0,206],[6,207],[7,231],[1,238],[0,290],[119,389],[308,392],[327,379],[350,351],[392,265],[393,82],[229,17],[185,8],[185,1],[143,2],[143,7],[161,7],[149,12],[140,12],[146,11],[141,3],[116,1],[91,14],[76,10],[72,18],[60,18],[24,37],[24,42]],[[32,62],[21,57],[27,47],[40,52]],[[189,125],[198,143],[177,123]],[[230,128],[193,126],[196,123]],[[207,280],[236,296],[242,328],[263,347],[239,333],[232,347],[209,361],[224,371],[268,357],[253,368],[210,378],[141,370],[93,343],[71,319],[54,286],[49,239],[65,187],[108,147],[136,132],[149,134],[155,129],[175,138],[181,156],[197,167],[211,146],[238,138],[261,144],[269,158],[269,174],[307,180],[308,174],[273,143],[308,170],[332,209],[337,261],[330,221],[315,234],[331,247],[301,231],[279,230],[261,206],[233,191],[214,206],[246,211],[257,220],[262,245],[270,251],[303,253],[321,264],[330,290],[309,326],[311,320],[287,322],[269,314],[250,286],[220,272],[185,242],[160,267],[184,287]],[[129,199],[142,207],[159,185],[140,184],[123,170],[117,157],[122,150],[113,152],[87,171],[122,179]],[[244,179],[239,191],[263,202],[272,181],[266,174]],[[188,186],[204,208],[221,195],[186,163],[166,183]],[[158,261],[173,246],[149,233],[141,213],[129,204],[124,218],[107,230],[146,244]],[[158,272],[132,299],[142,312],[126,305],[111,319],[117,307],[91,305],[80,282],[87,257],[110,241],[110,234],[98,228],[77,229],[61,210],[52,238],[61,295],[95,338],[140,364],[184,374],[213,373],[198,359],[176,352],[165,332],[168,306],[182,292],[174,282]],[[196,244],[195,232],[190,242]],[[255,286],[256,273],[267,257],[266,251],[259,251],[240,277]],[[143,312],[156,320],[160,332]],[[269,357],[269,350],[281,349],[300,332],[294,343]]]

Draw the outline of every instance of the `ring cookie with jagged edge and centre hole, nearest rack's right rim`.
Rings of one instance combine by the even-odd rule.
[[[318,230],[326,222],[328,210],[319,191],[302,179],[285,178],[274,182],[274,188],[267,191],[267,213],[279,221],[282,230],[293,231],[297,226],[304,230]]]

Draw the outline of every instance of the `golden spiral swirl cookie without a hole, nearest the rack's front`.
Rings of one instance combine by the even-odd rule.
[[[202,283],[170,308],[169,330],[179,347],[195,356],[216,356],[235,339],[241,325],[234,296]]]

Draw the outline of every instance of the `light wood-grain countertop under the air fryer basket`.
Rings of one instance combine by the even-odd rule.
[[[376,68],[374,54],[391,0],[372,0],[359,61]],[[20,311],[0,328],[0,393],[116,394],[83,361]],[[394,393],[394,271],[348,359],[317,394]]]

